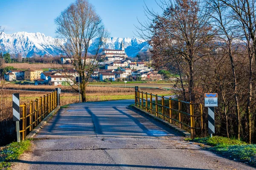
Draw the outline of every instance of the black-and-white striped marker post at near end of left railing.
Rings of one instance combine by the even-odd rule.
[[[20,94],[12,94],[13,121],[16,122],[17,142],[20,142]]]

